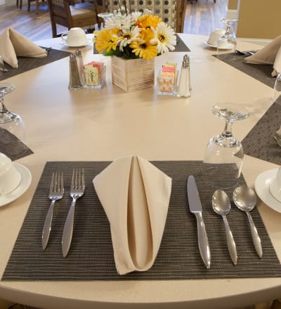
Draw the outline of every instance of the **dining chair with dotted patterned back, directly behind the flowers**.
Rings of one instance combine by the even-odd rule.
[[[119,4],[116,0],[107,0],[107,11],[118,10]],[[141,0],[131,1],[131,11],[143,11],[148,8],[153,14],[158,15],[162,20],[175,30],[183,32],[185,18],[186,0]]]

